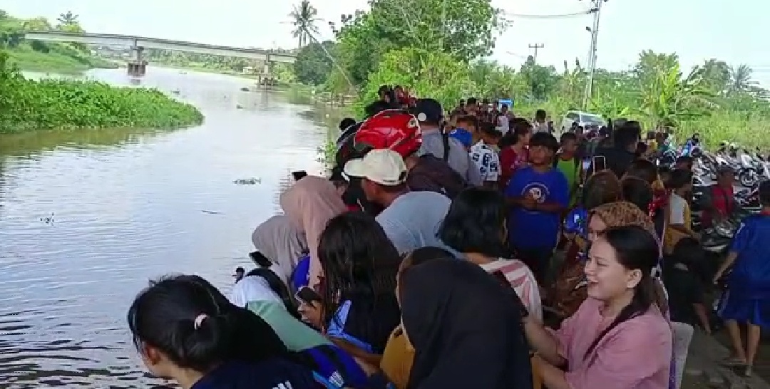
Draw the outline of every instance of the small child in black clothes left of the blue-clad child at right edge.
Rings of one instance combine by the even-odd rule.
[[[705,304],[705,285],[697,269],[705,260],[698,241],[681,238],[671,255],[665,258],[663,283],[668,291],[671,321],[700,326],[706,334],[711,334],[711,306]]]

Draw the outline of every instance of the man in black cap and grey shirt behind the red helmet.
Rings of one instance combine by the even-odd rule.
[[[432,154],[446,161],[450,168],[460,173],[468,184],[477,186],[484,184],[480,171],[460,141],[441,134],[439,125],[443,111],[440,103],[433,98],[420,98],[417,100],[415,111],[423,133],[423,145],[417,155]],[[445,152],[444,145],[449,145],[448,153]]]

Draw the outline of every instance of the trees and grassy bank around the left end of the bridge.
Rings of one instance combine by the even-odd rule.
[[[0,10],[0,47],[5,47],[9,61],[27,71],[55,71],[76,73],[91,68],[116,68],[113,62],[92,55],[89,48],[78,43],[27,42],[28,31],[83,32],[78,15],[65,12],[52,25],[46,18],[13,18]]]

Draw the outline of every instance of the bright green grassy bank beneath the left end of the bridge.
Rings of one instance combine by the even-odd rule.
[[[117,68],[118,64],[74,50],[35,52],[28,45],[6,49],[9,62],[24,71],[75,74],[92,68]]]

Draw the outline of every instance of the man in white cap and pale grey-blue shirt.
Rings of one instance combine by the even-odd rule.
[[[434,191],[409,191],[407,165],[396,151],[369,151],[363,158],[348,161],[344,171],[363,178],[361,188],[367,200],[385,207],[377,222],[400,254],[425,246],[447,248],[437,233],[449,211],[449,198]]]

